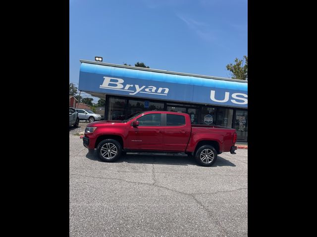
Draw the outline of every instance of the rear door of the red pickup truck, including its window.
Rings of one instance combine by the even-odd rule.
[[[184,115],[164,114],[163,150],[184,152],[191,133],[190,120]]]

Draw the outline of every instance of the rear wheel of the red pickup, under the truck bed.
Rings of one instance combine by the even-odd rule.
[[[217,159],[217,151],[211,145],[205,145],[195,153],[196,162],[201,166],[211,166]]]

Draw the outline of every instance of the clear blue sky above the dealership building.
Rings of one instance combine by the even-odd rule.
[[[69,81],[79,59],[230,77],[248,55],[247,0],[70,0]],[[84,96],[88,96],[84,94]],[[95,99],[94,102],[97,102]]]

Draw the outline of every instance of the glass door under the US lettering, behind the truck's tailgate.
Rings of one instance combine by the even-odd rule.
[[[236,110],[234,128],[237,130],[237,141],[248,141],[248,111]]]

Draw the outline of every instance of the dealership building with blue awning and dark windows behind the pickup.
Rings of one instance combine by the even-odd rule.
[[[190,115],[194,124],[235,128],[248,141],[248,81],[80,60],[80,91],[106,100],[105,119],[138,111]]]

